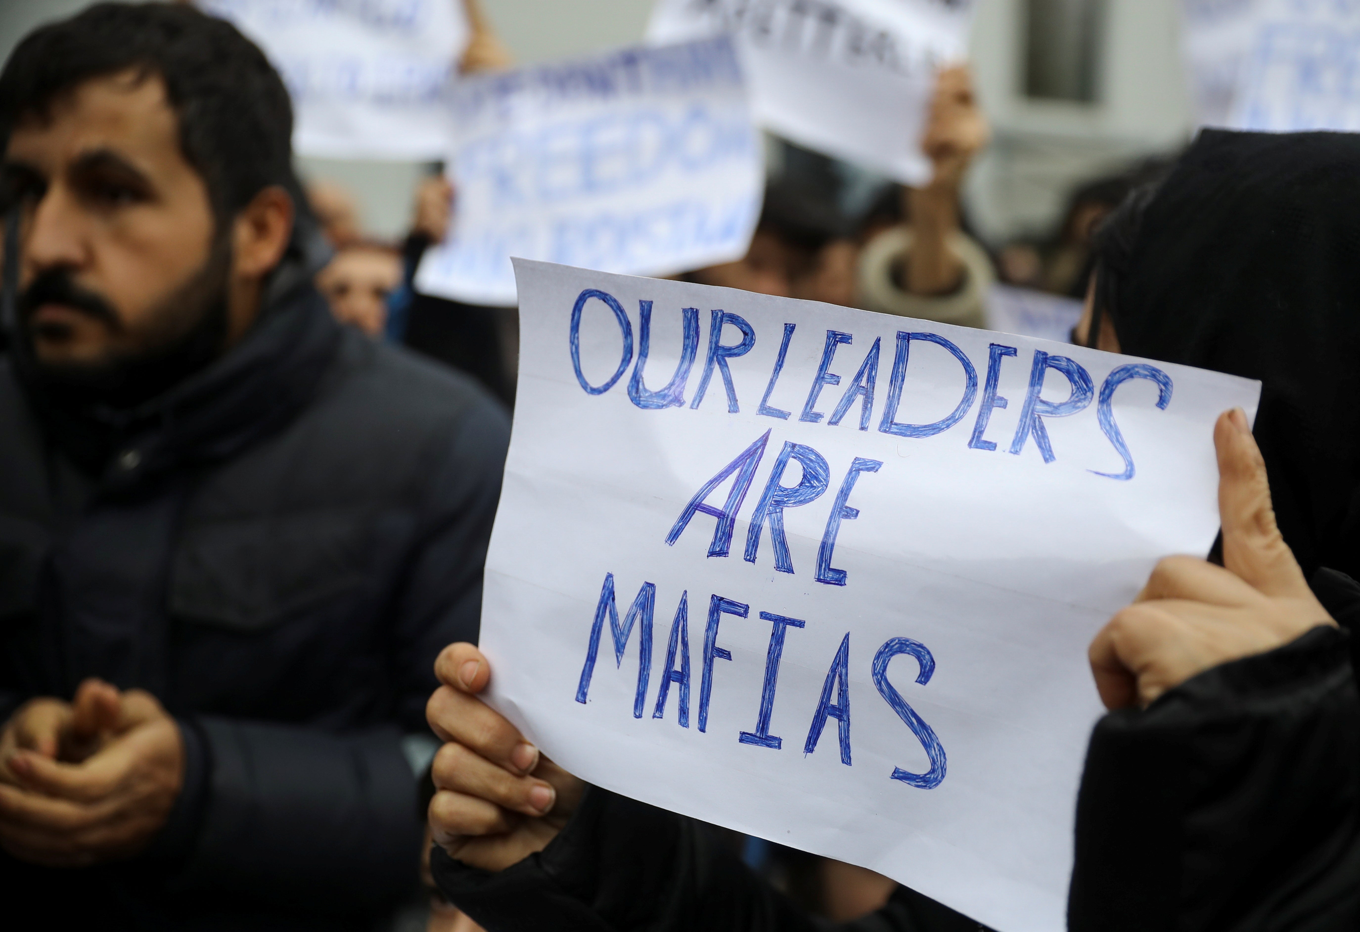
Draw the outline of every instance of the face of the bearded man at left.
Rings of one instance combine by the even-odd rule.
[[[101,371],[204,325],[224,336],[230,246],[159,78],[58,97],[15,127],[3,171],[22,199],[20,325],[41,366]]]

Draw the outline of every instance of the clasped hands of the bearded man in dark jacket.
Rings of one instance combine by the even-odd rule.
[[[97,679],[72,702],[24,703],[0,732],[0,846],[48,867],[144,849],[184,784],[184,739],[160,703]]]

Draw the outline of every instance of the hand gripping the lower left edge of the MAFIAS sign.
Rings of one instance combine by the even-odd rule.
[[[585,784],[539,754],[476,694],[491,682],[487,659],[452,644],[435,661],[443,683],[426,708],[447,742],[435,755],[430,827],[450,857],[502,871],[547,848],[571,819]]]

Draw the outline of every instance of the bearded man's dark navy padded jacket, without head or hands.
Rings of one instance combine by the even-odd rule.
[[[341,329],[309,272],[292,254],[239,344],[131,412],[53,404],[22,343],[0,356],[0,721],[99,676],[159,698],[185,748],[137,857],[0,853],[15,916],[370,928],[416,887],[412,736],[432,744],[439,649],[477,635],[509,425]]]

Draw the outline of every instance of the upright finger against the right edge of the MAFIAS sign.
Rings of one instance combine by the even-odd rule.
[[[1213,445],[1219,452],[1223,565],[1268,596],[1311,597],[1303,570],[1276,525],[1266,464],[1242,408],[1219,415]]]

